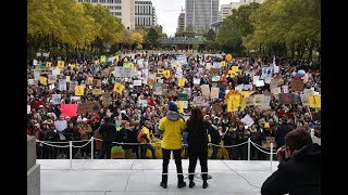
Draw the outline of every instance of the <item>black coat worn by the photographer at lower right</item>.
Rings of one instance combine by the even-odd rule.
[[[310,144],[278,165],[261,187],[262,195],[320,195],[322,172],[321,146]]]

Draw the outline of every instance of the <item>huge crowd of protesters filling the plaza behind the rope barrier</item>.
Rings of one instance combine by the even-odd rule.
[[[185,62],[183,62],[183,56],[186,57]],[[200,88],[202,84],[209,84],[210,89],[212,87],[219,88],[219,98],[206,96],[203,106],[200,106],[204,120],[212,125],[208,131],[210,142],[214,144],[210,146],[212,153],[209,158],[211,159],[247,159],[247,144],[226,147],[226,155],[222,155],[221,151],[223,146],[238,145],[248,139],[263,146],[268,136],[274,138],[276,150],[284,145],[286,133],[294,129],[302,129],[308,133],[313,133],[316,138],[321,136],[320,117],[313,117],[314,114],[315,116],[318,113],[320,115],[320,107],[304,106],[300,98],[303,92],[293,91],[296,94],[295,101],[290,104],[284,104],[278,101],[278,94],[273,93],[270,83],[265,82],[263,86],[257,87],[253,82],[254,76],[262,75],[262,67],[273,67],[276,64],[279,70],[273,73],[274,69],[272,69],[272,78],[282,80],[277,87],[289,87],[291,79],[303,76],[299,75],[299,70],[302,70],[307,77],[303,91],[307,89],[311,90],[311,93],[320,94],[320,70],[302,61],[294,62],[286,57],[273,58],[272,56],[226,61],[226,55],[221,54],[198,53],[185,56],[165,53],[149,54],[147,52],[112,55],[108,56],[105,62],[100,57],[83,54],[70,57],[39,56],[35,62],[28,62],[27,134],[34,135],[38,140],[37,158],[69,158],[67,141],[76,141],[73,143],[74,146],[77,146],[73,147],[73,158],[90,158],[91,154],[95,158],[111,158],[112,154],[110,153],[114,145],[122,146],[125,158],[160,158],[157,156],[153,144],[146,143],[161,140],[159,120],[166,115],[169,102],[177,102],[178,94],[185,93],[184,89],[189,88],[188,105],[182,112],[184,118],[189,116],[190,109],[196,106],[194,98],[202,95]],[[64,62],[63,67],[57,68],[58,61]],[[47,62],[51,64],[47,65]],[[214,62],[220,63],[217,73],[211,72]],[[221,62],[224,62],[225,66],[221,66]],[[125,66],[125,64],[127,66],[132,64],[130,67],[136,69],[137,74],[129,78],[114,77],[114,68]],[[208,66],[210,67],[208,68]],[[228,74],[233,66],[238,66],[240,69],[235,76]],[[178,67],[182,73],[177,75]],[[55,69],[59,69],[55,82],[42,83],[40,77],[49,78]],[[159,74],[159,69],[171,70],[171,74]],[[36,75],[37,73],[39,75]],[[156,75],[154,79],[149,77],[153,74]],[[217,81],[212,79],[215,76],[220,76]],[[89,78],[100,79],[101,84],[97,87],[95,82],[89,83]],[[183,87],[178,87],[179,78],[186,79]],[[60,79],[66,80],[65,90],[60,90]],[[200,79],[199,83],[194,83],[195,79]],[[134,80],[141,80],[141,84],[135,86]],[[152,82],[152,80],[156,81]],[[75,90],[70,89],[74,87],[71,82],[75,82],[75,86],[83,86],[84,94],[76,95]],[[121,83],[124,87],[121,93],[114,90],[115,83]],[[154,83],[162,84],[162,94],[157,93]],[[239,106],[237,110],[228,112],[225,99],[226,90],[236,90],[240,84],[251,84],[252,88],[248,91],[254,91],[252,95],[271,95],[269,107]],[[96,88],[101,89],[103,93],[111,94],[111,104],[104,103],[102,94],[92,94],[92,90]],[[290,93],[291,89],[288,90]],[[53,103],[53,94],[61,94],[60,103]],[[76,99],[76,96],[78,98]],[[63,104],[85,104],[88,102],[97,102],[100,107],[98,110],[85,114],[62,115]],[[221,109],[213,109],[212,105],[216,104],[221,106]],[[246,115],[249,115],[254,121],[251,126],[246,126],[241,120]],[[57,121],[65,120],[67,127],[61,129]],[[144,132],[145,130],[146,132]],[[141,134],[140,139],[139,134]],[[94,151],[91,151],[91,143],[88,143],[91,136],[102,140],[102,142],[94,140]],[[187,134],[184,132],[183,144],[187,143],[186,136]],[[132,143],[132,145],[115,142]],[[186,147],[183,145],[183,148]],[[268,151],[265,147],[263,150]],[[256,160],[268,158],[266,154],[253,146],[251,146],[250,155],[250,159]],[[185,150],[185,158],[187,158],[187,150]]]

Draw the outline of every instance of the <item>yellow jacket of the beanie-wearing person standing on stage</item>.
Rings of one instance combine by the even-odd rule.
[[[179,150],[182,148],[182,138],[185,129],[185,121],[179,118],[172,121],[163,117],[160,121],[159,129],[163,131],[162,148],[165,150]]]

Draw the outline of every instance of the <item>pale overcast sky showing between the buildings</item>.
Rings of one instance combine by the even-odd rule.
[[[174,36],[177,26],[177,17],[182,12],[182,6],[185,9],[185,0],[151,0],[156,6],[158,24],[162,25],[163,31],[167,36]],[[220,0],[221,4],[229,4],[239,0]],[[219,11],[220,11],[219,5]]]

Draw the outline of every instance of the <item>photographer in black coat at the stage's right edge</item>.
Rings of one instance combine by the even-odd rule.
[[[289,132],[276,155],[278,169],[262,184],[262,195],[321,194],[321,146],[313,144],[309,133],[299,129]]]

